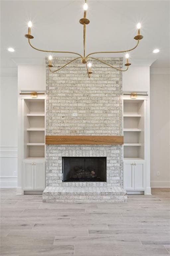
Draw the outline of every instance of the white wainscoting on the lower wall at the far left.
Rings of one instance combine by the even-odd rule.
[[[17,187],[17,147],[0,147],[0,187]]]

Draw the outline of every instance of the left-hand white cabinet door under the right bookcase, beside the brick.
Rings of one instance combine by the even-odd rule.
[[[124,188],[134,189],[134,165],[132,163],[124,162]]]

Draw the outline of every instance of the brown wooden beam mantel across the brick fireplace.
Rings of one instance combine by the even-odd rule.
[[[124,144],[124,136],[46,135],[45,144],[122,145]]]

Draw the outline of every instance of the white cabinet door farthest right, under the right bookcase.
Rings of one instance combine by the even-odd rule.
[[[134,189],[144,189],[144,163],[134,163]]]

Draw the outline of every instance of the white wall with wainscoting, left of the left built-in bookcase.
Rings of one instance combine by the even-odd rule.
[[[17,187],[17,77],[1,77],[0,187]]]

